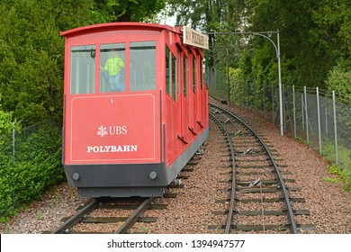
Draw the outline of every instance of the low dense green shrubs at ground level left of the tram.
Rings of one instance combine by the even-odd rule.
[[[12,134],[8,125],[11,116],[6,114],[5,118],[6,123],[4,116],[0,116],[0,121],[3,121],[3,127],[0,125],[3,129],[0,144],[0,221],[8,220],[31,201],[39,200],[50,186],[65,177],[61,165],[60,128],[53,127],[51,123],[40,123],[30,132],[22,130],[16,135],[13,156]],[[4,129],[7,129],[6,132]]]

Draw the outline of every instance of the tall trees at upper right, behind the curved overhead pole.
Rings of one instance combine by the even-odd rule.
[[[339,78],[336,71],[338,76],[347,75],[349,71],[349,0],[169,0],[168,3],[172,6],[171,13],[177,15],[178,24],[190,24],[202,31],[279,30],[285,86],[327,89],[330,83],[334,83],[334,87],[340,83],[333,81],[334,77]],[[258,83],[264,80],[277,82],[276,53],[269,41],[239,34],[210,36],[211,47],[217,48],[209,53],[213,57],[207,61],[210,67],[213,67],[214,58],[222,58],[220,48],[236,47],[230,50],[230,67],[240,67],[246,78]],[[276,43],[275,34],[270,38]],[[244,53],[247,50],[250,60]]]

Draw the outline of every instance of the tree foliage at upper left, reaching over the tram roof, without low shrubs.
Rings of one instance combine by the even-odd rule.
[[[0,94],[4,111],[31,125],[61,121],[64,40],[59,31],[144,21],[165,0],[4,0],[0,3]]]

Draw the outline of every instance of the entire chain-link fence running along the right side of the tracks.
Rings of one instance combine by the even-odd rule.
[[[233,85],[230,80],[230,85]],[[279,89],[276,83],[255,83],[247,79],[235,91],[227,76],[207,71],[210,94],[260,112],[279,123]],[[219,91],[220,88],[220,91]],[[232,87],[231,87],[232,88]],[[233,88],[234,89],[234,88]],[[351,101],[319,88],[284,88],[284,132],[309,144],[341,169],[351,168]]]

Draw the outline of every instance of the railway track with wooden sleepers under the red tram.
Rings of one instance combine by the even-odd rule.
[[[175,181],[166,186],[163,198],[98,198],[92,199],[76,211],[73,216],[62,219],[57,229],[45,231],[52,234],[73,233],[148,233],[149,225],[157,221],[159,211],[166,211],[168,204],[163,199],[173,200],[177,190],[184,187],[184,183],[193,172],[193,167],[201,160],[203,148],[193,156]],[[184,175],[188,174],[188,175]],[[166,201],[167,202],[167,201]],[[137,224],[139,223],[139,224]]]

